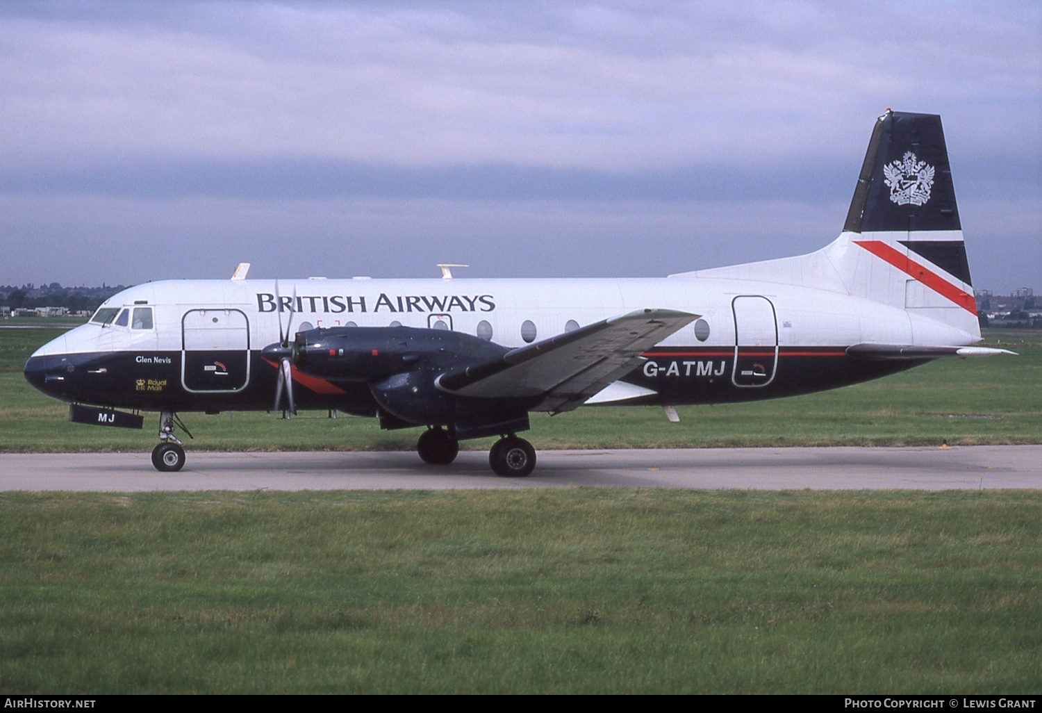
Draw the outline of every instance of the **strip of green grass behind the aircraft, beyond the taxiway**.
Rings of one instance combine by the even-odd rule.
[[[68,421],[68,408],[34,391],[22,365],[58,330],[0,329],[0,452],[151,449],[157,417],[144,431]],[[875,382],[772,401],[681,407],[681,422],[655,408],[579,409],[532,414],[537,448],[925,445],[1042,442],[1042,333],[990,333],[986,344],[1019,357],[941,360]],[[283,421],[263,413],[183,414],[191,448],[410,449],[417,429],[380,432],[375,419],[304,413]],[[485,449],[491,440],[464,447]]]

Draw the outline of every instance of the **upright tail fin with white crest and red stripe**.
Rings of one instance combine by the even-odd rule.
[[[824,252],[850,294],[979,337],[939,116],[879,117],[843,232]]]

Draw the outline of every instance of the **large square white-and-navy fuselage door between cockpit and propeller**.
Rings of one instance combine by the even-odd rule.
[[[239,310],[190,310],[181,318],[185,391],[242,391],[250,380],[250,329]]]

